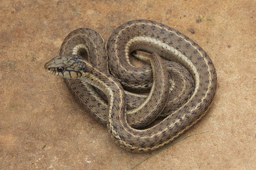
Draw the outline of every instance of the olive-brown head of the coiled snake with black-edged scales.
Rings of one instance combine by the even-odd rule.
[[[48,73],[62,78],[80,78],[88,72],[85,62],[84,58],[79,55],[63,55],[54,57],[45,63],[44,68]]]

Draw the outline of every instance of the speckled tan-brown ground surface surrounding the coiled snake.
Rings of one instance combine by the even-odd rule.
[[[150,155],[117,146],[63,79],[43,67],[74,29],[95,29],[107,41],[117,26],[140,18],[196,41],[216,67],[218,87],[209,112],[181,137],[209,132],[186,138],[136,169],[256,168],[255,0],[73,1],[81,14],[70,5],[0,3],[0,169],[128,169]]]

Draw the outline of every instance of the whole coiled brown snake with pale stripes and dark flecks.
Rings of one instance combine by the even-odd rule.
[[[133,66],[131,54],[148,64]],[[143,19],[117,27],[107,47],[96,31],[76,29],[44,67],[64,78],[80,104],[107,124],[115,143],[131,152],[154,151],[192,127],[211,106],[217,87],[215,67],[196,42]],[[161,122],[145,128],[159,116]]]

